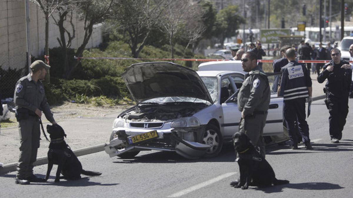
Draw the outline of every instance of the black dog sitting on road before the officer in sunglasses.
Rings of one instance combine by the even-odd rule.
[[[237,132],[233,135],[233,144],[240,178],[231,181],[235,188],[247,189],[249,186],[266,187],[271,185],[288,184],[288,180],[278,180],[271,165],[256,150],[250,138],[244,133]]]

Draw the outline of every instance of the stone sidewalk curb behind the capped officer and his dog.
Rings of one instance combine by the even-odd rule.
[[[81,155],[88,155],[88,154],[92,154],[92,153],[97,153],[97,152],[100,152],[103,150],[104,150],[104,144],[99,144],[99,145],[92,146],[92,147],[86,147],[86,148],[74,150],[73,153],[76,156],[81,156]],[[46,163],[48,163],[48,157],[44,156],[44,157],[38,157],[37,161],[35,161],[33,165],[39,166],[39,165],[43,165]],[[4,166],[0,167],[0,174],[5,174],[8,172],[16,171],[16,168],[17,168],[17,162],[5,164]]]

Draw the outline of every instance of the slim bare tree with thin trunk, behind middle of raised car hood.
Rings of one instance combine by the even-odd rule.
[[[191,13],[191,3],[189,0],[168,0],[162,17],[160,29],[168,35],[170,55],[174,58],[174,37],[181,33],[187,21],[187,16]]]

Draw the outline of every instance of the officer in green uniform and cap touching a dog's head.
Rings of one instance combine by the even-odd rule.
[[[38,60],[33,62],[30,68],[31,72],[17,81],[13,97],[21,141],[16,184],[45,182],[43,178],[36,177],[33,174],[33,163],[37,159],[39,148],[39,118],[42,116],[42,111],[52,124],[56,124],[41,82],[50,66]]]

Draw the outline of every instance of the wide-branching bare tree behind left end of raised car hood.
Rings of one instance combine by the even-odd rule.
[[[160,21],[164,0],[118,0],[110,20],[110,30],[126,32],[134,58],[144,47],[152,28]]]

